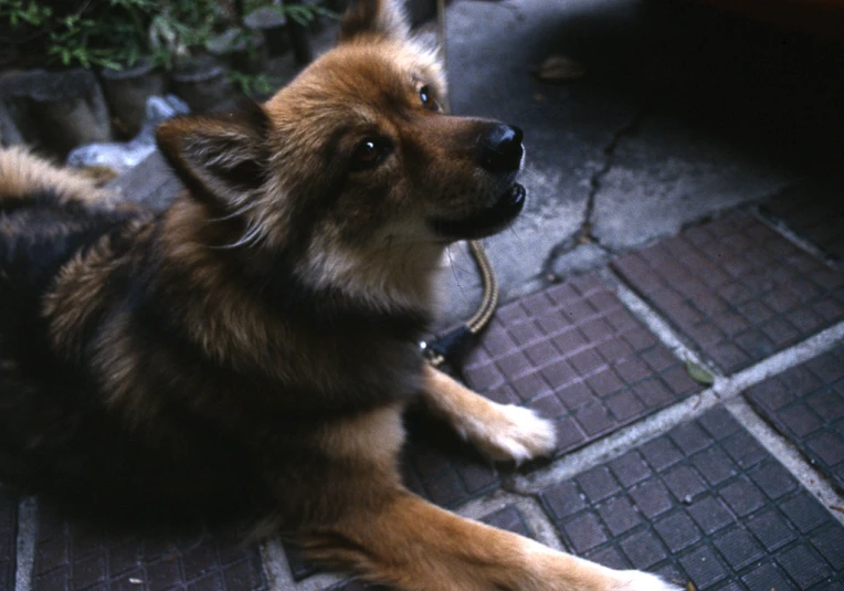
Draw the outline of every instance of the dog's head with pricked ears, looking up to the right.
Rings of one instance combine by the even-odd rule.
[[[194,196],[242,218],[235,243],[335,264],[442,250],[502,230],[525,200],[521,131],[445,114],[445,92],[401,11],[358,0],[338,45],[265,104],[168,122],[158,141]]]

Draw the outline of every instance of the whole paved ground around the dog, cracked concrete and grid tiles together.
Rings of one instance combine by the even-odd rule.
[[[587,75],[537,80],[553,53]],[[492,466],[412,415],[411,488],[689,590],[844,589],[843,55],[658,2],[450,8],[454,109],[525,129],[531,192],[461,370],[559,446]],[[178,190],[156,158],[118,186]],[[477,297],[452,264],[443,325]],[[118,535],[0,490],[0,590],[365,588],[281,540]]]

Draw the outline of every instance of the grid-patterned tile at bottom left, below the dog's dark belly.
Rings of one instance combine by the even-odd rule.
[[[215,589],[259,591],[255,546],[223,532],[122,535],[67,521],[40,507],[33,591],[60,589]]]

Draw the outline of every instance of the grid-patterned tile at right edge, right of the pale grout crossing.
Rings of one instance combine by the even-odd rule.
[[[844,488],[844,345],[745,394],[762,416]],[[758,475],[771,494],[780,481]]]

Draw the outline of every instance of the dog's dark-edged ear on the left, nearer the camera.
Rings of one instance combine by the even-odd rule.
[[[268,125],[261,106],[249,103],[230,113],[169,119],[156,140],[192,194],[225,208],[264,183]]]

